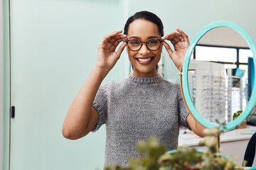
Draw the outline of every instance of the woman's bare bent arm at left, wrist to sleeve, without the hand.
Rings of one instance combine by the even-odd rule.
[[[92,69],[87,81],[75,96],[63,123],[62,132],[65,138],[76,140],[84,137],[99,120],[99,114],[92,108],[92,102],[105,74],[97,67]]]

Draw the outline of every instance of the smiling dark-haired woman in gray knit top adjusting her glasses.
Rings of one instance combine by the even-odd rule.
[[[202,126],[189,115],[180,87],[157,74],[162,47],[177,68],[183,66],[188,36],[182,30],[164,36],[164,26],[154,13],[141,11],[131,16],[122,30],[103,38],[97,63],[75,97],[63,124],[64,137],[75,140],[106,123],[105,166],[126,165],[137,157],[135,145],[150,135],[159,138],[167,149],[178,146],[182,125],[202,136]],[[175,50],[165,42],[170,40]],[[115,52],[117,45],[123,42]],[[100,86],[126,47],[133,73],[127,79]]]

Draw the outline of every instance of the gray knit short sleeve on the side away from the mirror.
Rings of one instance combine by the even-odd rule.
[[[108,84],[100,86],[92,103],[92,107],[99,113],[100,118],[92,128],[91,132],[96,132],[107,121],[107,87]]]

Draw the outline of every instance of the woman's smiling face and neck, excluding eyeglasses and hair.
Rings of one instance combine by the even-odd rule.
[[[137,39],[146,41],[151,38],[161,38],[158,27],[155,23],[144,19],[137,19],[129,24],[127,33],[128,40]],[[126,47],[129,60],[134,67],[132,75],[136,77],[155,77],[156,64],[161,58],[162,44],[156,51],[151,51],[146,47],[146,43],[142,43],[142,47],[138,51],[129,50]]]

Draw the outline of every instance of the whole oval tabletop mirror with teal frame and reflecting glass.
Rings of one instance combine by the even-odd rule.
[[[211,128],[219,120],[226,123],[223,130],[232,130],[250,117],[256,102],[251,97],[256,95],[255,60],[255,44],[235,23],[211,23],[193,38],[183,64],[182,88],[199,123]],[[241,114],[233,119],[237,111]]]

